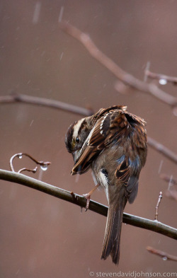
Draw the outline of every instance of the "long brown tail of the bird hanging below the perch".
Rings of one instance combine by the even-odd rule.
[[[123,197],[110,204],[108,209],[101,259],[105,260],[110,255],[115,265],[118,265],[120,257],[120,233],[126,202]]]

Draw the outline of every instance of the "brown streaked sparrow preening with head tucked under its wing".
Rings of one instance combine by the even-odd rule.
[[[89,208],[91,194],[103,187],[108,216],[101,259],[109,255],[118,265],[122,216],[127,201],[137,196],[139,173],[147,158],[147,132],[141,117],[115,105],[70,125],[65,144],[74,158],[72,175],[92,170],[95,187],[84,195]]]

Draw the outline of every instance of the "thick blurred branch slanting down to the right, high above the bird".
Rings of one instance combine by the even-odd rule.
[[[169,95],[168,93],[162,91],[154,84],[140,81],[131,74],[128,74],[126,71],[123,71],[120,66],[115,64],[113,60],[108,58],[105,54],[103,54],[103,52],[101,52],[101,50],[98,49],[98,47],[96,47],[89,35],[82,33],[79,29],[64,21],[59,23],[59,26],[62,30],[64,30],[64,32],[72,35],[72,37],[74,37],[76,40],[79,40],[79,42],[81,42],[82,45],[86,47],[86,50],[89,51],[93,58],[95,58],[98,62],[105,66],[106,69],[112,72],[112,74],[114,74],[123,83],[132,88],[135,88],[138,91],[153,95],[155,98],[161,100],[163,103],[170,105],[171,108],[175,108],[177,106],[177,98],[174,98],[172,95]]]

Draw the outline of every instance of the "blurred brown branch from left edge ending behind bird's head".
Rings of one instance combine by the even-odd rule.
[[[33,105],[42,105],[49,108],[61,109],[64,111],[73,112],[79,115],[91,116],[93,111],[91,109],[81,108],[76,105],[62,103],[58,100],[50,100],[47,98],[38,98],[30,95],[21,95],[13,93],[11,95],[0,96],[0,103],[28,103]]]

